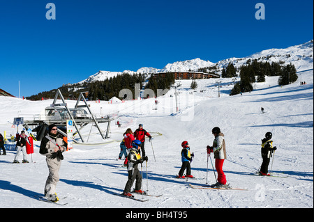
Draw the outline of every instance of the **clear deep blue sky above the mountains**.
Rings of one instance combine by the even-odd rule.
[[[218,62],[311,39],[312,0],[0,0],[0,88],[18,96],[20,81],[26,97],[98,70]]]

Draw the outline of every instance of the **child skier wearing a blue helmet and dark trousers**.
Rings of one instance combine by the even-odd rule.
[[[130,152],[128,154],[128,182],[126,182],[126,187],[124,188],[124,196],[132,197],[130,193],[130,189],[135,182],[135,193],[143,193],[141,190],[142,187],[142,175],[137,168],[138,164],[142,164],[144,161],[148,161],[148,157],[142,158],[140,155],[140,147],[141,141],[135,140],[133,141],[133,146],[130,148]]]

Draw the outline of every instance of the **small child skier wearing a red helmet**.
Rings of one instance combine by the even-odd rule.
[[[188,141],[182,142],[181,146],[183,148],[181,151],[182,166],[179,171],[178,178],[185,178],[185,176],[183,175],[185,170],[186,177],[193,178],[193,175],[190,174],[190,162],[193,161],[194,153],[190,153],[190,145],[188,145]]]

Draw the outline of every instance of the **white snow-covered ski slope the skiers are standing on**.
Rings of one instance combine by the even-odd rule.
[[[38,153],[40,142],[35,142],[35,153],[27,157],[29,164],[12,164],[15,151],[0,156],[0,207],[313,208],[313,69],[298,74],[298,81],[289,86],[278,86],[278,77],[269,77],[264,83],[256,83],[251,93],[232,97],[232,79],[219,79],[220,88],[218,79],[197,80],[195,90],[190,90],[190,80],[183,80],[177,89],[178,112],[173,89],[158,97],[157,105],[155,99],[89,102],[96,116],[110,115],[115,120],[109,139],[104,141],[96,127],[87,125],[82,134],[89,139],[88,144],[74,144],[73,150],[63,153],[57,195],[61,198],[59,203],[67,205],[37,200],[36,196],[43,193],[48,169],[45,157]],[[300,81],[307,84],[301,86]],[[76,103],[66,102],[70,108]],[[17,132],[12,125],[14,117],[34,118],[50,104],[52,100],[31,102],[0,97],[1,134]],[[117,120],[121,127],[117,127]],[[144,196],[149,199],[144,203],[116,195],[128,180],[126,168],[119,168],[123,161],[117,160],[119,143],[127,128],[134,132],[140,123],[153,136],[153,146],[148,140],[145,144],[149,167],[142,169],[142,189],[163,194],[159,198]],[[207,175],[209,184],[216,182],[210,160],[207,174],[206,146],[213,143],[213,127],[220,127],[225,134],[227,160],[223,170],[227,182],[247,191],[188,186],[205,184]],[[100,124],[100,128],[105,131],[107,124]],[[284,173],[286,178],[250,175],[262,164],[260,143],[266,132],[273,133],[278,148],[272,172]],[[75,140],[80,141],[78,137]],[[188,141],[195,154],[192,175],[200,180],[174,178],[181,168],[182,141]]]

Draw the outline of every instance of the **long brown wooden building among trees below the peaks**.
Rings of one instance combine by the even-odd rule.
[[[219,78],[218,74],[209,74],[204,72],[155,72],[153,77],[165,77],[166,74],[173,74],[174,79],[210,79]]]

